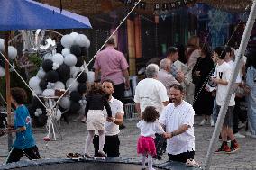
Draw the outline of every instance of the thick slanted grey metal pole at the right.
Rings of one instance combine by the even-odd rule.
[[[218,116],[218,120],[216,122],[215,125],[215,130],[212,136],[212,139],[210,141],[210,146],[208,148],[207,151],[207,155],[206,155],[206,162],[205,162],[205,170],[209,170],[210,166],[211,166],[211,161],[212,161],[212,156],[214,153],[214,148],[215,148],[215,144],[216,144],[216,140],[220,134],[220,131],[222,129],[223,123],[224,123],[224,117],[228,108],[228,103],[230,102],[230,98],[231,98],[231,94],[233,93],[233,84],[236,80],[236,77],[238,75],[239,69],[241,67],[242,64],[242,58],[243,55],[245,53],[245,49],[247,47],[248,41],[250,39],[251,36],[251,30],[253,28],[254,22],[255,22],[255,18],[256,18],[256,0],[253,0],[253,4],[251,7],[251,13],[249,15],[248,21],[246,23],[246,27],[245,30],[243,32],[242,35],[242,40],[241,40],[241,44],[238,50],[238,58],[235,61],[235,67],[233,68],[233,75],[232,78],[228,84],[228,91],[227,94],[225,96],[225,100],[224,100],[224,105],[221,107],[219,116]]]

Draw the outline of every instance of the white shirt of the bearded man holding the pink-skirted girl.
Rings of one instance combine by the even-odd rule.
[[[166,150],[169,154],[178,155],[187,151],[195,151],[194,115],[192,105],[185,101],[177,107],[169,103],[164,108],[159,121],[166,126],[166,132],[178,130],[184,124],[190,126],[186,132],[167,140]]]

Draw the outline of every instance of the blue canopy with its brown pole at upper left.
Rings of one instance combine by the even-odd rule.
[[[61,4],[61,1],[60,1]],[[33,29],[92,28],[87,17],[32,0],[0,0],[0,31],[5,34],[5,59],[8,60],[9,31]],[[5,62],[7,121],[11,124],[9,64]],[[12,136],[8,136],[11,149]]]

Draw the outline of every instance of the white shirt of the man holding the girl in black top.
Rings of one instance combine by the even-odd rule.
[[[115,118],[116,113],[120,113],[124,115],[123,111],[123,103],[114,97],[111,98],[110,101],[108,101],[112,116]],[[106,110],[104,109],[105,117],[107,116]],[[105,122],[105,135],[106,136],[113,136],[120,133],[119,125],[116,125],[114,122]]]

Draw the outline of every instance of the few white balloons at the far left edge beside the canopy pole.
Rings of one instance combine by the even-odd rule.
[[[5,51],[5,40],[0,39],[0,51],[1,53],[4,53]],[[8,56],[10,59],[10,62],[12,63],[14,58],[17,57],[17,49],[14,48],[13,46],[8,46]],[[12,64],[14,67],[14,64]],[[0,77],[5,76],[5,58],[4,56],[0,55]]]

